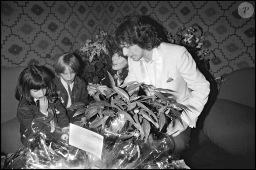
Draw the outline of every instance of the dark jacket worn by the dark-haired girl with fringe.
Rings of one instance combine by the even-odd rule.
[[[20,136],[21,136],[21,142],[24,144],[27,137],[29,137],[30,132],[26,131],[28,126],[30,125],[30,122],[34,118],[44,118],[45,123],[50,123],[51,121],[55,123],[56,125],[59,125],[60,127],[67,127],[69,126],[69,119],[67,116],[66,109],[62,106],[59,99],[56,100],[49,100],[49,108],[48,108],[48,116],[44,115],[39,111],[38,106],[36,103],[33,104],[27,104],[24,99],[22,99],[19,102],[18,109],[17,109],[17,117],[20,122]],[[51,123],[52,123],[51,122]],[[44,127],[47,129],[44,129],[46,131],[52,131],[53,129],[49,126],[45,126],[44,124],[36,125],[38,128],[43,129]]]

